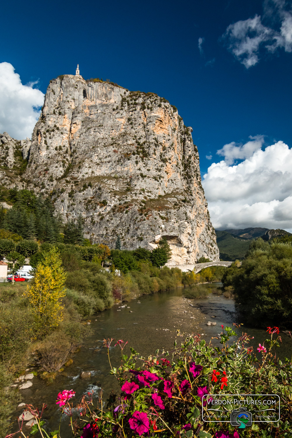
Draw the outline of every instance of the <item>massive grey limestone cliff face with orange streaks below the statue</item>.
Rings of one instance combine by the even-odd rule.
[[[165,236],[169,264],[219,259],[192,128],[153,93],[64,75],[50,82],[24,178],[50,194],[63,219],[81,214],[85,237],[152,249]],[[26,147],[26,148],[25,148]]]

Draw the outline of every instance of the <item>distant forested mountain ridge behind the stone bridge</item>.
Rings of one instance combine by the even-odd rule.
[[[244,229],[215,230],[220,260],[242,260],[248,251],[250,241],[261,237],[263,240],[271,240],[274,237],[291,236],[288,231],[268,228],[249,227]]]

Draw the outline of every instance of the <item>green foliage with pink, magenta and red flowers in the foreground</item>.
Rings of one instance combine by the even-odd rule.
[[[236,325],[236,324],[234,324]],[[236,325],[239,328],[239,325]],[[278,394],[281,398],[281,417],[276,422],[254,422],[251,427],[240,430],[241,437],[249,438],[288,438],[292,434],[292,378],[291,360],[285,363],[276,358],[274,347],[279,346],[281,338],[273,339],[278,333],[277,327],[267,330],[271,334],[266,339],[266,346],[259,345],[258,360],[248,346],[251,339],[246,333],[231,346],[230,336],[236,333],[226,327],[221,332],[222,348],[200,340],[199,336],[182,338],[181,346],[171,352],[162,352],[148,359],[141,357],[134,349],[130,357],[124,354],[127,343],[117,341],[122,352],[121,365],[111,367],[119,381],[119,396],[110,394],[106,409],[102,403],[102,392],[97,407],[92,401],[92,394],[83,396],[77,406],[70,403],[74,391],[64,390],[57,396],[62,414],[70,417],[74,437],[134,437],[153,438],[239,438],[236,428],[230,422],[202,421],[202,409],[206,410],[212,395],[224,394]],[[108,356],[114,339],[104,339]],[[164,357],[162,357],[164,356]],[[169,357],[169,360],[166,358]],[[136,362],[138,362],[136,364]],[[204,398],[205,397],[205,398]],[[44,406],[43,406],[44,408]],[[42,412],[28,406],[37,424],[33,432],[44,430]],[[60,437],[60,429],[51,432]],[[13,434],[9,435],[12,437]],[[43,435],[44,436],[44,435]]]

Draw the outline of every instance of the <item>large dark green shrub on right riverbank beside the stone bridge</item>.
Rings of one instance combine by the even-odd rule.
[[[292,327],[292,245],[253,240],[241,266],[232,264],[222,282],[234,288],[236,307],[251,325]]]

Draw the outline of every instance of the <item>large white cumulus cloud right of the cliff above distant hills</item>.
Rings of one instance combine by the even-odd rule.
[[[202,181],[213,226],[292,231],[292,149],[278,141],[239,164],[228,162],[212,163]]]

